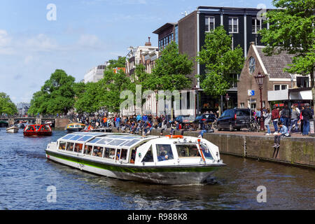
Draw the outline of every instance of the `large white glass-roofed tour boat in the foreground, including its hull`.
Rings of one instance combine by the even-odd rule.
[[[218,146],[183,136],[73,132],[48,144],[45,154],[48,160],[85,172],[172,185],[206,183],[225,166]]]

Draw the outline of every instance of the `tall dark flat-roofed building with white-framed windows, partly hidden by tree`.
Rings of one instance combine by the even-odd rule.
[[[244,50],[244,57],[246,57],[251,42],[261,45],[258,31],[268,28],[268,24],[263,23],[260,13],[261,10],[258,8],[199,6],[197,10],[186,15],[177,23],[167,23],[153,32],[158,34],[160,41],[169,34],[172,36],[172,31],[174,31],[173,36],[179,45],[179,52],[186,53],[190,59],[193,59],[193,73],[190,78],[193,80],[192,88],[199,90],[197,111],[217,111],[218,106],[223,109],[237,106],[237,83],[232,83],[232,87],[228,90],[230,99],[225,101],[223,96],[211,97],[204,94],[200,88],[200,80],[195,78],[196,74],[201,76],[205,74],[205,66],[196,62],[195,58],[204,45],[207,32],[223,26],[227,34],[232,37],[231,48],[240,45]],[[162,41],[162,43],[164,42]],[[161,43],[159,44],[161,45]],[[239,74],[235,74],[235,78],[239,78]]]

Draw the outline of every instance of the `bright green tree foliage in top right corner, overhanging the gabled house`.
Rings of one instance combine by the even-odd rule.
[[[314,0],[273,0],[276,10],[267,12],[269,29],[262,29],[262,43],[267,46],[267,55],[286,51],[294,55],[293,63],[284,71],[303,76],[310,75],[314,88],[315,66],[315,1]],[[314,99],[314,95],[313,95]]]

